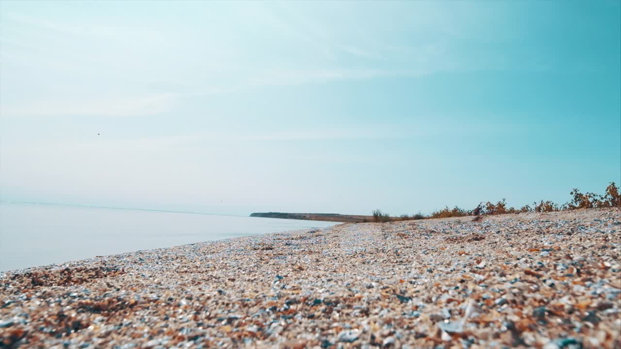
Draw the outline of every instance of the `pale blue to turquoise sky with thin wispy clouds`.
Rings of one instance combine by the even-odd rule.
[[[619,1],[0,2],[0,199],[428,213],[621,182]]]

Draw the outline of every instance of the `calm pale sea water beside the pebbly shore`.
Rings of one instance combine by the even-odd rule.
[[[334,224],[0,202],[0,271]]]

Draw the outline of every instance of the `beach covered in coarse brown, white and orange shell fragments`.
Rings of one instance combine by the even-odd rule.
[[[0,347],[620,348],[620,253],[592,209],[97,257],[0,273]]]

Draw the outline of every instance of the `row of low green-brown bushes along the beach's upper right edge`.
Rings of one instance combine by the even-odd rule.
[[[540,201],[533,202],[533,206],[525,205],[516,209],[515,207],[507,207],[505,199],[496,203],[487,201],[481,202],[474,209],[466,210],[460,207],[445,208],[433,211],[430,215],[425,216],[420,212],[415,215],[401,215],[399,217],[389,217],[388,214],[384,214],[379,209],[373,211],[373,222],[389,222],[391,220],[413,220],[413,219],[426,219],[426,218],[448,218],[448,217],[463,217],[466,215],[494,215],[494,214],[519,214],[525,212],[553,212],[553,211],[566,211],[575,209],[601,209],[605,207],[621,207],[621,194],[619,188],[612,182],[606,188],[604,195],[594,193],[581,193],[578,189],[574,188],[570,193],[572,196],[571,201],[563,205],[558,205],[552,201]]]

